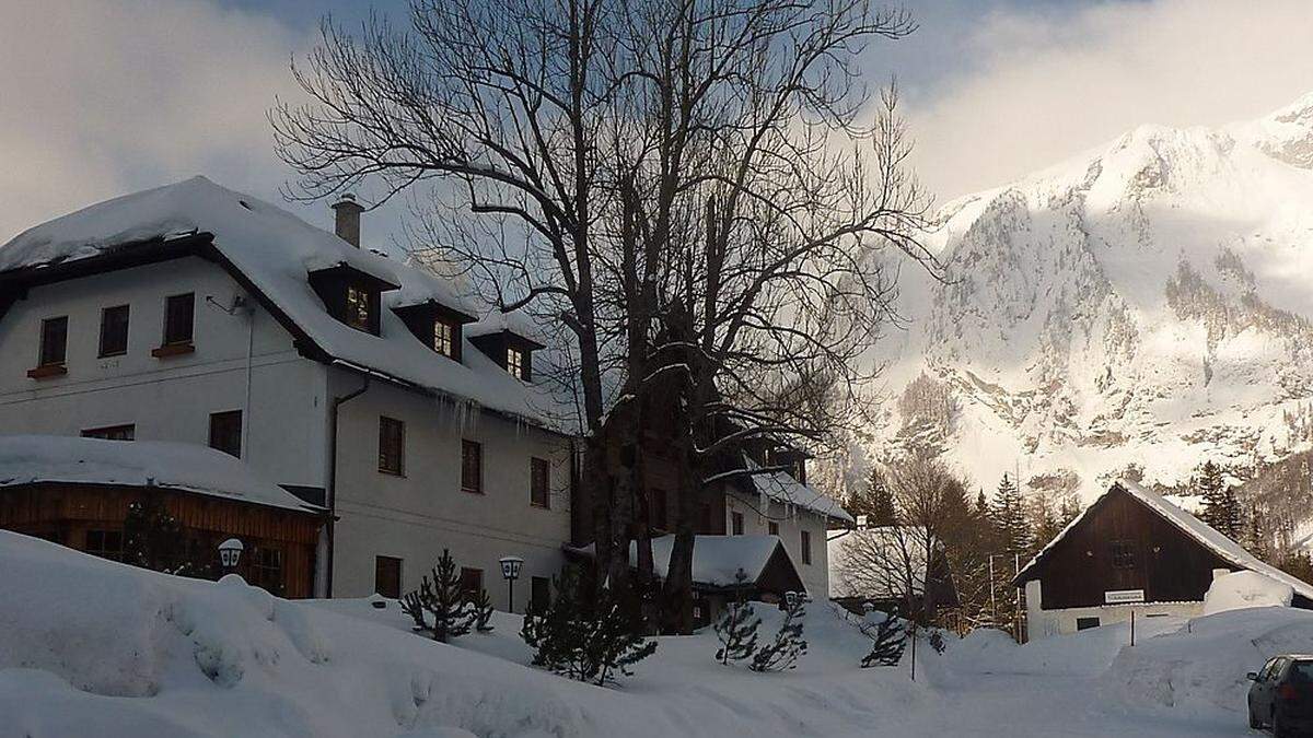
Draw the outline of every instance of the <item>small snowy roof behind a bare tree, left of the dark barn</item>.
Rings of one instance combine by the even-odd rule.
[[[911,575],[913,590],[924,590],[927,559],[923,531],[886,525],[832,533],[826,540],[830,597],[898,599],[905,595],[906,574]],[[857,574],[853,567],[864,571]]]

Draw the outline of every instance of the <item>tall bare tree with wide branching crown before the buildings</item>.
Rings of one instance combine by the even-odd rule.
[[[869,0],[412,0],[408,30],[326,21],[294,70],[312,102],[270,117],[293,197],[431,185],[419,232],[503,310],[569,326],[613,584],[632,537],[650,580],[641,429],[668,415],[666,625],[687,632],[706,490],[779,470],[747,449],[860,423],[885,252],[934,261],[897,96],[857,75],[914,28]]]

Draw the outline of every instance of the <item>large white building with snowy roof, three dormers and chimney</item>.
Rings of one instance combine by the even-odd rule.
[[[523,557],[523,609],[563,563],[571,439],[540,345],[473,320],[429,274],[196,177],[0,247],[0,433],[225,448],[335,510],[319,594],[414,588],[450,548],[499,608],[498,559]]]

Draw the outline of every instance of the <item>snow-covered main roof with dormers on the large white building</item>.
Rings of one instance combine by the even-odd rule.
[[[393,313],[393,307],[436,299],[477,315],[478,309],[442,280],[356,248],[286,210],[205,177],[109,200],[29,228],[0,247],[0,273],[104,256],[150,239],[165,239],[167,247],[169,238],[197,232],[211,234],[219,253],[330,361],[534,424],[559,425],[561,404],[544,387],[512,377],[467,341],[462,362],[439,356]],[[382,295],[381,335],[336,320],[311,289],[309,272],[340,264],[400,286]]]

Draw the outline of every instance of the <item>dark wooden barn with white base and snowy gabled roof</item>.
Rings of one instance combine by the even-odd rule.
[[[1115,483],[1020,570],[1031,638],[1140,617],[1196,616],[1217,575],[1250,570],[1288,584],[1295,607],[1313,586],[1259,561],[1162,495]]]

